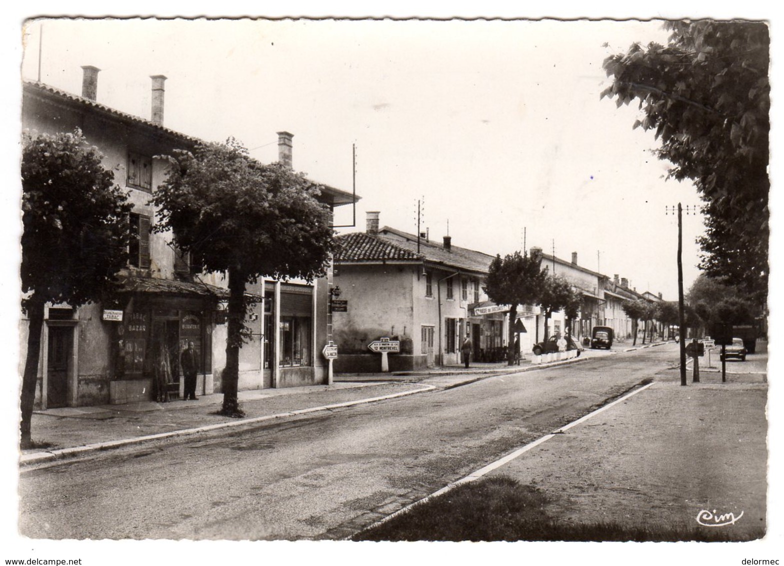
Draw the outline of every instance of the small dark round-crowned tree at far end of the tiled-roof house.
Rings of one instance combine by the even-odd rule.
[[[521,256],[520,252],[500,255],[490,262],[485,292],[497,304],[510,305],[509,312],[509,365],[514,364],[514,322],[517,320],[517,305],[536,303],[545,274],[540,270],[542,256]]]

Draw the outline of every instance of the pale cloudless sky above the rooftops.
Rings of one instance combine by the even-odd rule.
[[[42,30],[43,29],[43,33]],[[34,20],[23,77],[150,118],[164,74],[169,128],[241,141],[260,161],[294,134],[293,163],[352,190],[337,224],[381,224],[502,255],[539,246],[677,299],[677,218],[699,205],[666,181],[641,111],[600,100],[602,61],[666,42],[660,21]],[[39,49],[40,48],[40,49]],[[40,56],[40,59],[39,59]],[[684,283],[698,271],[700,216],[684,215]]]

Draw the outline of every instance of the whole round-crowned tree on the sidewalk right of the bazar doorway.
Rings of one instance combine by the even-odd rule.
[[[156,230],[204,270],[228,278],[228,332],[223,371],[224,415],[242,416],[237,399],[239,350],[252,299],[245,287],[259,277],[303,278],[326,273],[335,249],[330,211],[318,185],[280,163],[262,165],[233,139],[175,151],[153,202]]]

